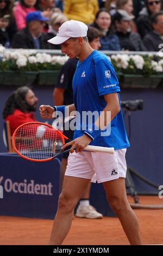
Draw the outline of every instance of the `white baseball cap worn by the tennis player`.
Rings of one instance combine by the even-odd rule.
[[[79,36],[87,35],[87,26],[81,21],[65,21],[58,30],[58,33],[54,38],[48,40],[51,44],[59,45],[65,42],[69,38],[78,38]]]

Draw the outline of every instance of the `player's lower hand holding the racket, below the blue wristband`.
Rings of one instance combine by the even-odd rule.
[[[66,147],[72,145],[70,149],[70,153],[73,153],[74,149],[76,153],[82,152],[87,145],[90,144],[91,138],[89,138],[87,135],[82,135],[79,138],[73,139],[73,141],[66,143],[65,145],[62,146],[62,149],[65,149]]]

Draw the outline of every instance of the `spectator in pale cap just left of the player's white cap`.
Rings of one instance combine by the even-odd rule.
[[[49,39],[57,35],[59,27],[67,21],[67,18],[62,13],[53,13],[50,21],[50,26],[48,30]],[[61,49],[61,45],[52,45],[53,49]]]

